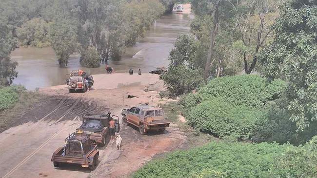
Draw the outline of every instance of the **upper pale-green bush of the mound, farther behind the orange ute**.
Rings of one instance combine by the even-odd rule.
[[[212,79],[198,91],[200,100],[217,98],[231,105],[262,107],[267,101],[277,99],[285,90],[282,80],[267,82],[258,75],[240,75]]]

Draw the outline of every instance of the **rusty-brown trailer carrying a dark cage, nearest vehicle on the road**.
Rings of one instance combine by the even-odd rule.
[[[59,167],[60,163],[72,163],[94,170],[98,158],[97,145],[91,144],[89,135],[73,133],[65,139],[65,145],[53,153],[51,161],[54,167]]]

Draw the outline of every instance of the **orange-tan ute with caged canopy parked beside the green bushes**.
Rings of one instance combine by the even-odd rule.
[[[164,132],[170,123],[165,119],[164,110],[159,107],[139,105],[130,109],[123,109],[121,112],[122,124],[128,123],[139,127],[141,135],[145,135],[148,130]]]

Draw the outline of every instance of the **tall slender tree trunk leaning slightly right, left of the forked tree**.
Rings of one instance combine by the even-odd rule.
[[[207,60],[206,60],[206,66],[204,70],[204,75],[203,78],[207,79],[208,74],[209,74],[209,69],[210,69],[210,63],[211,59],[214,57],[214,47],[215,47],[215,39],[217,36],[217,29],[218,29],[218,20],[219,20],[219,3],[221,2],[217,0],[217,2],[214,3],[214,12],[213,12],[213,26],[211,28],[210,32],[210,46],[208,49],[208,55],[207,55]]]

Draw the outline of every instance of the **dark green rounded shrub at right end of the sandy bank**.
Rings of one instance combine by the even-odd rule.
[[[189,93],[203,82],[197,70],[185,65],[170,66],[168,72],[161,75],[160,79],[164,80],[167,91],[173,96]]]

